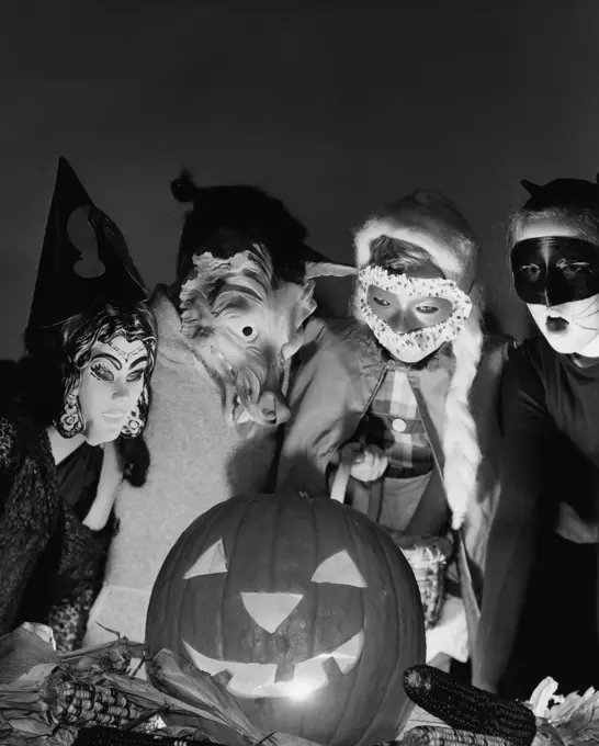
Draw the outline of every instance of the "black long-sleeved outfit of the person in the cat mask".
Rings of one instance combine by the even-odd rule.
[[[508,698],[530,697],[546,676],[563,693],[597,688],[599,365],[525,340],[506,366],[501,417],[475,682]]]

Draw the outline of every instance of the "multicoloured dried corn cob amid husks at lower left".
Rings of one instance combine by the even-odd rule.
[[[44,697],[50,713],[68,725],[124,726],[144,714],[114,687],[55,679]]]

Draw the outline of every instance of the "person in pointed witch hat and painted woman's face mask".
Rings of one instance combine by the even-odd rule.
[[[61,158],[25,357],[2,364],[0,634],[23,621],[80,646],[124,478],[145,482],[142,440],[156,329],[114,223]]]

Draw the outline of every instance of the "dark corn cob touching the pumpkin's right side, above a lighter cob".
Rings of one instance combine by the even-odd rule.
[[[502,700],[461,683],[432,666],[406,669],[404,687],[422,710],[451,727],[531,746],[536,734],[534,713],[523,702]]]

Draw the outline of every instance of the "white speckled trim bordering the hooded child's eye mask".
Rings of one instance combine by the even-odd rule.
[[[391,274],[382,267],[370,264],[359,273],[358,309],[378,342],[397,360],[416,363],[432,354],[444,342],[453,341],[467,319],[472,301],[452,280],[409,278]],[[378,316],[369,302],[369,289],[380,287],[408,298],[439,298],[449,302],[451,312],[442,321],[397,332]]]

